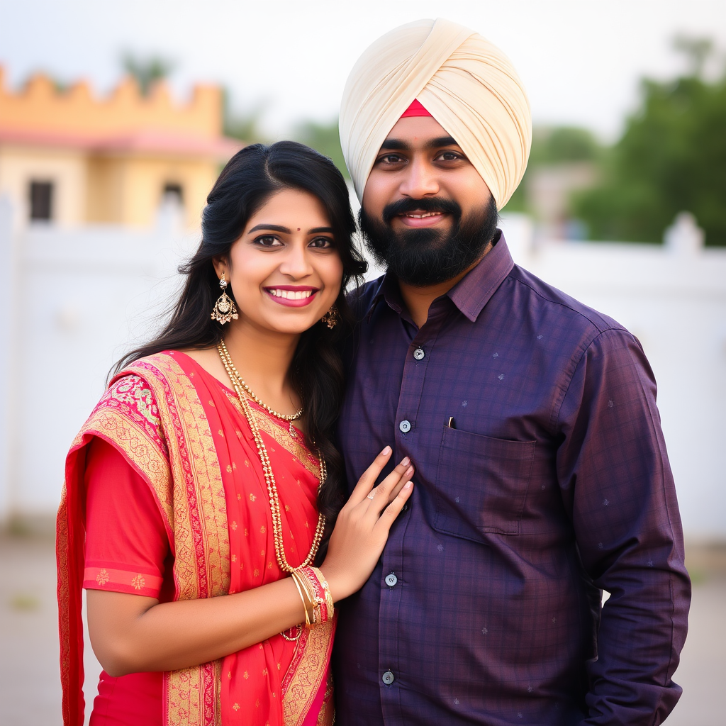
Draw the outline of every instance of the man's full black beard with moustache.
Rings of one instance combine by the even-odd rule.
[[[449,213],[454,218],[448,232],[438,229],[404,229],[395,232],[391,219],[406,212]],[[480,211],[462,220],[461,207],[451,199],[401,199],[383,210],[382,219],[363,208],[358,222],[366,247],[380,265],[413,287],[428,287],[452,280],[484,254],[497,232],[499,213],[492,197]]]

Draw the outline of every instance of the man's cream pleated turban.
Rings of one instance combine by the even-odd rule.
[[[359,200],[380,144],[414,99],[456,139],[501,209],[527,166],[529,101],[502,51],[441,18],[386,33],[348,76],[340,144]]]

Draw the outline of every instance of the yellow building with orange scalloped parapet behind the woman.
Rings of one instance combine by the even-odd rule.
[[[216,86],[176,105],[164,83],[144,97],[124,78],[97,99],[87,83],[59,91],[38,74],[14,93],[0,67],[0,194],[26,221],[147,227],[172,195],[198,227],[220,164],[241,147],[222,134]]]

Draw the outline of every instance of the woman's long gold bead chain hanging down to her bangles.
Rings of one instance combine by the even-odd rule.
[[[275,555],[277,556],[277,564],[280,566],[280,569],[283,572],[294,572],[301,567],[308,566],[313,561],[315,555],[317,555],[318,547],[320,546],[320,540],[322,539],[323,531],[325,531],[325,515],[323,515],[322,513],[318,514],[317,527],[315,528],[313,543],[311,544],[308,556],[297,567],[291,566],[290,563],[287,562],[287,558],[285,557],[285,544],[282,542],[282,518],[280,517],[280,497],[277,494],[277,484],[275,484],[274,481],[272,465],[270,464],[269,456],[267,455],[265,443],[262,440],[260,428],[257,425],[257,420],[252,412],[252,407],[250,407],[247,396],[242,393],[240,382],[236,373],[234,372],[234,364],[232,364],[232,358],[229,356],[229,353],[227,352],[227,348],[224,346],[224,343],[221,343],[219,346],[217,346],[217,350],[219,351],[219,357],[221,359],[221,362],[224,365],[224,370],[227,371],[227,375],[229,375],[229,380],[232,381],[232,386],[234,386],[234,390],[237,391],[237,396],[240,397],[242,411],[245,412],[245,418],[250,425],[252,435],[255,439],[255,444],[257,445],[257,453],[259,454],[260,461],[262,463],[262,471],[265,476],[265,482],[267,484],[267,494],[269,495],[270,500],[270,512],[272,513],[272,536],[274,539],[274,551]],[[322,457],[322,453],[318,450],[317,454],[320,462],[320,483],[318,485],[319,492],[323,483],[325,482],[325,478],[327,477],[327,469],[325,468],[325,459]]]

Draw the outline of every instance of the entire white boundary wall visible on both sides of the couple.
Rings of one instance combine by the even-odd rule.
[[[105,375],[154,328],[198,236],[158,227],[15,230],[0,198],[0,518],[57,507],[65,452]],[[643,343],[685,531],[726,538],[726,250],[533,241],[503,220],[515,261]],[[373,271],[370,277],[373,276]]]

